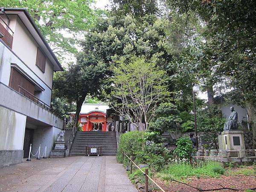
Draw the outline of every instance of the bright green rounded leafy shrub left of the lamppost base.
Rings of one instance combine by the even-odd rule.
[[[173,151],[180,159],[190,159],[192,153],[195,151],[192,141],[189,137],[180,137],[176,140],[176,148]]]

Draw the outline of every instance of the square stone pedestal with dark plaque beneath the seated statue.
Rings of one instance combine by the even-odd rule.
[[[223,131],[218,141],[220,150],[245,150],[244,131]]]

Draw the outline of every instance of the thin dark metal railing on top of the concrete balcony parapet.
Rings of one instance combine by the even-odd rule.
[[[19,91],[18,91],[21,95],[25,96],[26,98],[30,99],[32,102],[34,102],[35,104],[39,105],[41,108],[44,108],[45,110],[55,114],[56,116],[58,116],[59,118],[63,119],[62,115],[60,113],[58,113],[57,111],[55,111],[53,108],[51,108],[49,105],[45,104],[44,102],[42,102],[40,99],[38,99],[37,97],[35,97],[33,94],[29,93],[26,89],[24,89],[23,87],[19,86]]]

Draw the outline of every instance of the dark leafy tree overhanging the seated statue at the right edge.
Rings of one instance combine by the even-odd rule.
[[[207,49],[212,76],[224,78],[233,89],[233,102],[244,105],[250,116],[256,147],[256,3],[254,0],[168,0],[180,13],[195,12],[206,25]],[[208,70],[208,71],[210,71]],[[221,79],[223,81],[223,79]],[[219,82],[216,81],[218,84]],[[235,93],[235,94],[234,94]]]

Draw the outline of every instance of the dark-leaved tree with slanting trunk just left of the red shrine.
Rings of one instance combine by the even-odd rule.
[[[64,72],[57,72],[53,81],[55,96],[76,103],[77,122],[84,99],[89,94],[96,95],[105,76],[105,70],[102,63],[80,63],[70,65]]]

